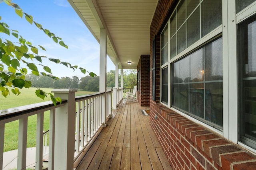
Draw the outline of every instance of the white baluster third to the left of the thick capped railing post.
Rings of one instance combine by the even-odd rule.
[[[28,117],[19,119],[17,169],[26,169]]]

